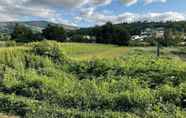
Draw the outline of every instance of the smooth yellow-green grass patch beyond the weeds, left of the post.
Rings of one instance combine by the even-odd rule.
[[[115,58],[128,51],[125,47],[101,44],[63,43],[65,52],[75,59]]]

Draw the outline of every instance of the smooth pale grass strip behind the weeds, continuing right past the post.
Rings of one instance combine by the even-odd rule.
[[[63,43],[63,50],[73,59],[91,60],[91,59],[114,59],[135,51],[146,52],[156,56],[156,47],[120,47],[103,44],[86,43]],[[164,47],[161,49],[161,56],[184,59],[173,52],[179,52],[177,47]]]

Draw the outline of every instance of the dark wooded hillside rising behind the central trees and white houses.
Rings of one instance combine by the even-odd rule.
[[[113,24],[113,26],[119,26],[126,29],[131,35],[140,34],[146,28],[164,28],[172,29],[173,31],[183,32],[186,31],[186,21],[177,22],[133,22],[133,23],[119,23]],[[101,27],[101,26],[100,26]],[[81,28],[79,30],[82,34],[91,35],[94,30],[99,30],[100,27]],[[95,29],[96,28],[96,29]]]

